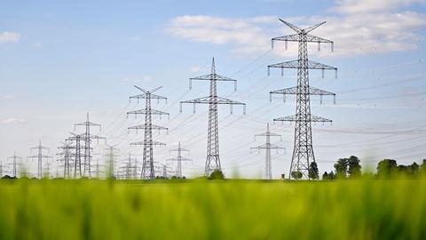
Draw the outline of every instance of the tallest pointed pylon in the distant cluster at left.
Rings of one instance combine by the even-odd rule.
[[[84,126],[86,132],[83,133],[84,140],[84,169],[83,176],[91,178],[91,140],[105,140],[103,137],[99,137],[91,134],[91,127],[98,126],[99,130],[101,128],[100,124],[91,123],[89,120],[89,113],[86,116],[86,122],[80,124],[74,124],[74,131],[76,126]],[[88,175],[86,175],[88,174]]]

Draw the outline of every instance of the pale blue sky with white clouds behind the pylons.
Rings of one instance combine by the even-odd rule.
[[[270,39],[291,34],[278,18],[305,27],[327,20],[312,34],[335,41],[320,52],[310,47],[310,57],[339,68],[338,78],[311,72],[311,84],[337,93],[337,103],[312,98],[312,114],[331,118],[332,126],[317,125],[313,143],[321,172],[333,169],[339,157],[356,155],[375,165],[385,157],[400,164],[426,158],[425,1],[2,1],[0,8],[0,158],[28,156],[39,139],[56,154],[59,141],[82,122],[86,112],[103,124],[99,135],[117,144],[122,157],[140,154],[129,142],[142,134],[127,127],[142,118],[122,114],[141,108],[128,97],[138,84],[146,89],[162,85],[160,94],[170,112],[154,123],[170,128],[154,134],[167,143],[156,148],[156,160],[170,158],[177,140],[192,151],[193,164],[186,175],[202,172],[207,136],[207,106],[178,113],[179,100],[208,95],[208,84],[188,78],[209,72],[216,57],[217,72],[238,81],[221,84],[219,95],[248,104],[248,114],[227,108],[219,114],[221,159],[229,174],[262,176],[264,154],[250,155],[260,145],[253,135],[264,132],[272,118],[293,115],[294,98],[269,102],[268,92],[296,84],[296,72],[266,76],[266,66],[296,59],[296,44],[276,44]],[[283,135],[277,145],[287,155],[273,155],[277,178],[288,173],[293,125],[272,124]],[[98,133],[98,132],[97,132]],[[96,152],[102,160],[99,144]],[[118,159],[117,159],[118,160]],[[120,161],[117,161],[120,162]],[[26,162],[30,169],[34,163]],[[117,163],[120,164],[120,163]]]

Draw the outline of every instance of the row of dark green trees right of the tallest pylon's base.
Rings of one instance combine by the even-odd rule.
[[[375,177],[378,179],[389,179],[393,177],[408,177],[415,178],[420,175],[426,175],[426,159],[422,160],[422,164],[409,164],[403,165],[398,164],[393,159],[383,159],[377,164],[376,173],[372,172],[361,172],[361,164],[357,156],[350,156],[348,158],[339,158],[335,162],[335,171],[324,172],[322,174],[323,180],[335,180],[335,179],[357,179],[362,176]],[[318,176],[318,174],[311,174],[314,170],[318,171],[317,164],[310,167],[310,178]],[[312,175],[312,176],[311,176]],[[312,178],[312,179],[318,179]]]

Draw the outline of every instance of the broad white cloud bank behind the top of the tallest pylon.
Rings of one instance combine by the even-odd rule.
[[[389,4],[388,4],[389,1]],[[397,52],[417,48],[421,36],[415,32],[426,29],[426,15],[419,12],[389,12],[398,7],[426,0],[344,0],[336,2],[327,16],[286,18],[301,27],[327,20],[327,24],[312,32],[335,41],[335,53],[312,52],[324,56],[374,54]],[[366,3],[368,2],[368,3]],[[367,5],[365,10],[359,6]],[[275,16],[258,16],[248,19],[219,18],[213,16],[185,15],[174,18],[166,28],[171,36],[193,42],[230,44],[239,55],[256,55],[270,49],[271,38],[292,34],[291,29],[280,23]],[[276,44],[273,52],[280,56],[295,56],[296,47]],[[312,48],[316,45],[312,46]]]

